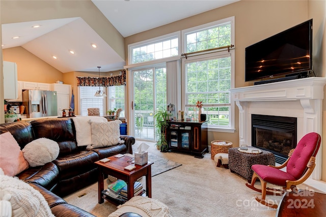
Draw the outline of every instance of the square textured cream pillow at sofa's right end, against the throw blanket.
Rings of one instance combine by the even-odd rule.
[[[124,143],[120,139],[120,120],[107,122],[91,121],[92,145],[87,148],[100,148]]]

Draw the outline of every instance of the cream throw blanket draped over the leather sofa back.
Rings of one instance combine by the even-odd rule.
[[[92,144],[91,124],[89,121],[107,122],[106,118],[99,116],[79,116],[72,118],[76,129],[77,146]]]

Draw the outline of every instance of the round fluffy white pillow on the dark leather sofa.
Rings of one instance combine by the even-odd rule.
[[[46,138],[33,140],[22,149],[24,158],[29,162],[31,167],[42,166],[47,162],[55,160],[59,152],[60,148],[58,143]]]

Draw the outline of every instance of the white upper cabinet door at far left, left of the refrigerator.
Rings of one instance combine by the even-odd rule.
[[[16,99],[18,98],[17,87],[17,64],[13,62],[4,61],[4,98]]]

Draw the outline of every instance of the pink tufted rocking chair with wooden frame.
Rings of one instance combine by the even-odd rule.
[[[267,183],[282,186],[283,190],[291,189],[303,183],[312,173],[316,164],[315,157],[320,146],[320,135],[315,132],[306,134],[296,145],[295,149],[289,152],[288,159],[279,167],[253,165],[254,175],[251,184],[246,185],[257,192],[261,192],[261,199],[256,200],[266,206],[277,208],[277,204],[268,203],[265,200],[267,195],[282,195],[283,191],[276,188],[266,187]],[[286,172],[280,169],[286,167]],[[259,178],[261,189],[254,186],[256,179]]]

